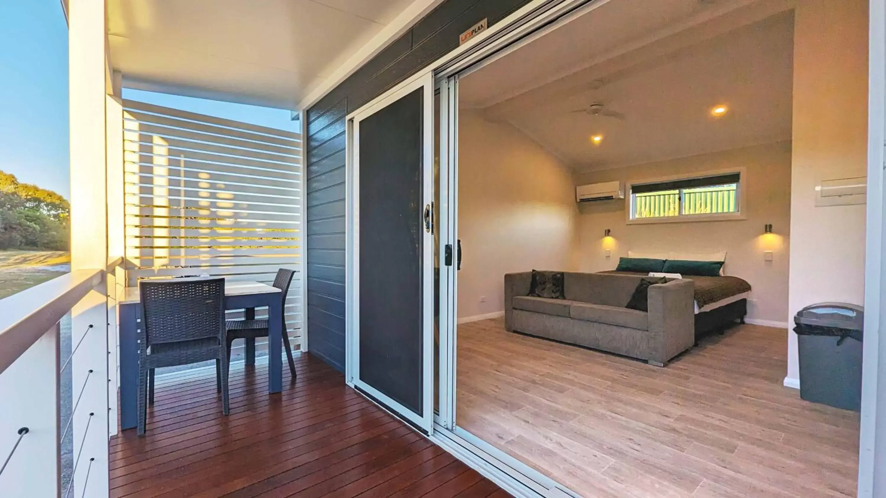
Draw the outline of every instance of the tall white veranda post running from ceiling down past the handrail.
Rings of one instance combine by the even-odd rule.
[[[71,269],[108,264],[107,94],[112,76],[107,52],[105,0],[68,4],[68,87],[70,93]],[[72,388],[82,389],[74,410],[73,491],[63,498],[108,496],[108,441],[112,432],[108,387],[107,283],[89,291],[72,310],[72,342],[82,344],[71,362]],[[116,404],[116,400],[113,401]]]

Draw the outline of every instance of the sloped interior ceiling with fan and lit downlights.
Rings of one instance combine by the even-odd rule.
[[[640,4],[649,5],[603,4],[470,73],[460,103],[517,126],[579,171],[789,140],[790,12],[661,0],[662,10],[637,14]],[[626,119],[572,112],[595,102]],[[714,119],[719,103],[729,111]]]

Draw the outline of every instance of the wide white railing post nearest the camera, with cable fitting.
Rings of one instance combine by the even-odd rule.
[[[0,496],[60,492],[58,331],[57,323],[0,375]]]

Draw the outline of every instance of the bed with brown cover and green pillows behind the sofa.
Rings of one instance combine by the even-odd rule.
[[[601,272],[624,275],[644,275],[639,272]],[[696,338],[713,331],[722,332],[748,314],[750,284],[730,275],[697,277],[683,275],[696,284]]]

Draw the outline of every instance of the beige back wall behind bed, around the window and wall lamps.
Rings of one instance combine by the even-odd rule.
[[[628,250],[710,253],[727,251],[725,272],[750,282],[748,318],[783,323],[788,312],[790,219],[790,142],[778,142],[713,154],[683,157],[598,172],[579,172],[577,185],[620,180],[637,182],[670,175],[744,168],[741,220],[689,221],[628,225],[626,200],[582,203],[579,206],[580,270],[614,270]],[[765,235],[771,223],[774,234]],[[611,230],[610,238],[603,230]],[[606,249],[611,256],[606,257]],[[764,261],[764,251],[773,261]]]

